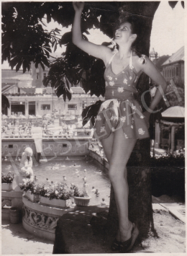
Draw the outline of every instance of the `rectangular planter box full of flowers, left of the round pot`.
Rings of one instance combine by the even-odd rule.
[[[40,186],[40,203],[43,206],[55,208],[69,208],[71,205],[71,191],[64,182],[47,181]]]

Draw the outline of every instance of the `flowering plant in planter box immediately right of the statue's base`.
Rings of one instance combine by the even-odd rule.
[[[19,187],[24,190],[24,197],[32,201],[32,203],[40,201],[40,184],[36,184],[35,180],[19,184]]]

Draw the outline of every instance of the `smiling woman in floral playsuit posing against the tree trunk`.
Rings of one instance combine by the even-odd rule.
[[[81,13],[83,2],[73,2],[75,19],[73,22],[73,43],[86,53],[104,61],[106,70],[105,102],[96,117],[95,138],[99,138],[109,162],[109,178],[119,215],[119,230],[111,249],[128,252],[139,234],[137,226],[128,219],[127,162],[137,139],[149,137],[147,126],[150,113],[155,109],[162,95],[158,89],[148,110],[142,114],[138,102],[134,100],[136,84],[144,72],[163,91],[166,82],[154,64],[146,56],[137,56],[132,46],[137,39],[134,23],[129,19],[115,32],[114,42],[119,46],[115,53],[104,45],[95,45],[83,40],[81,35]]]

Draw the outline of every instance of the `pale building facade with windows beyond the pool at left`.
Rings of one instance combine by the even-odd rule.
[[[55,56],[56,58],[59,56]],[[30,71],[22,73],[22,70],[16,72],[10,69],[1,70],[1,88],[2,93],[9,99],[10,107],[3,114],[11,115],[20,113],[23,115],[44,115],[46,113],[56,115],[81,115],[83,108],[93,104],[103,97],[96,97],[86,94],[78,84],[77,87],[71,87],[72,98],[63,100],[55,95],[53,88],[44,87],[42,80],[47,76],[49,69],[32,63]]]

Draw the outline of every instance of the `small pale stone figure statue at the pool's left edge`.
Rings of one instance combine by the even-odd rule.
[[[26,183],[28,180],[34,179],[34,173],[32,170],[32,149],[28,146],[22,153],[22,159],[20,161],[18,172],[19,174],[15,177],[13,189],[20,191],[19,184]],[[16,184],[15,184],[16,183]]]

